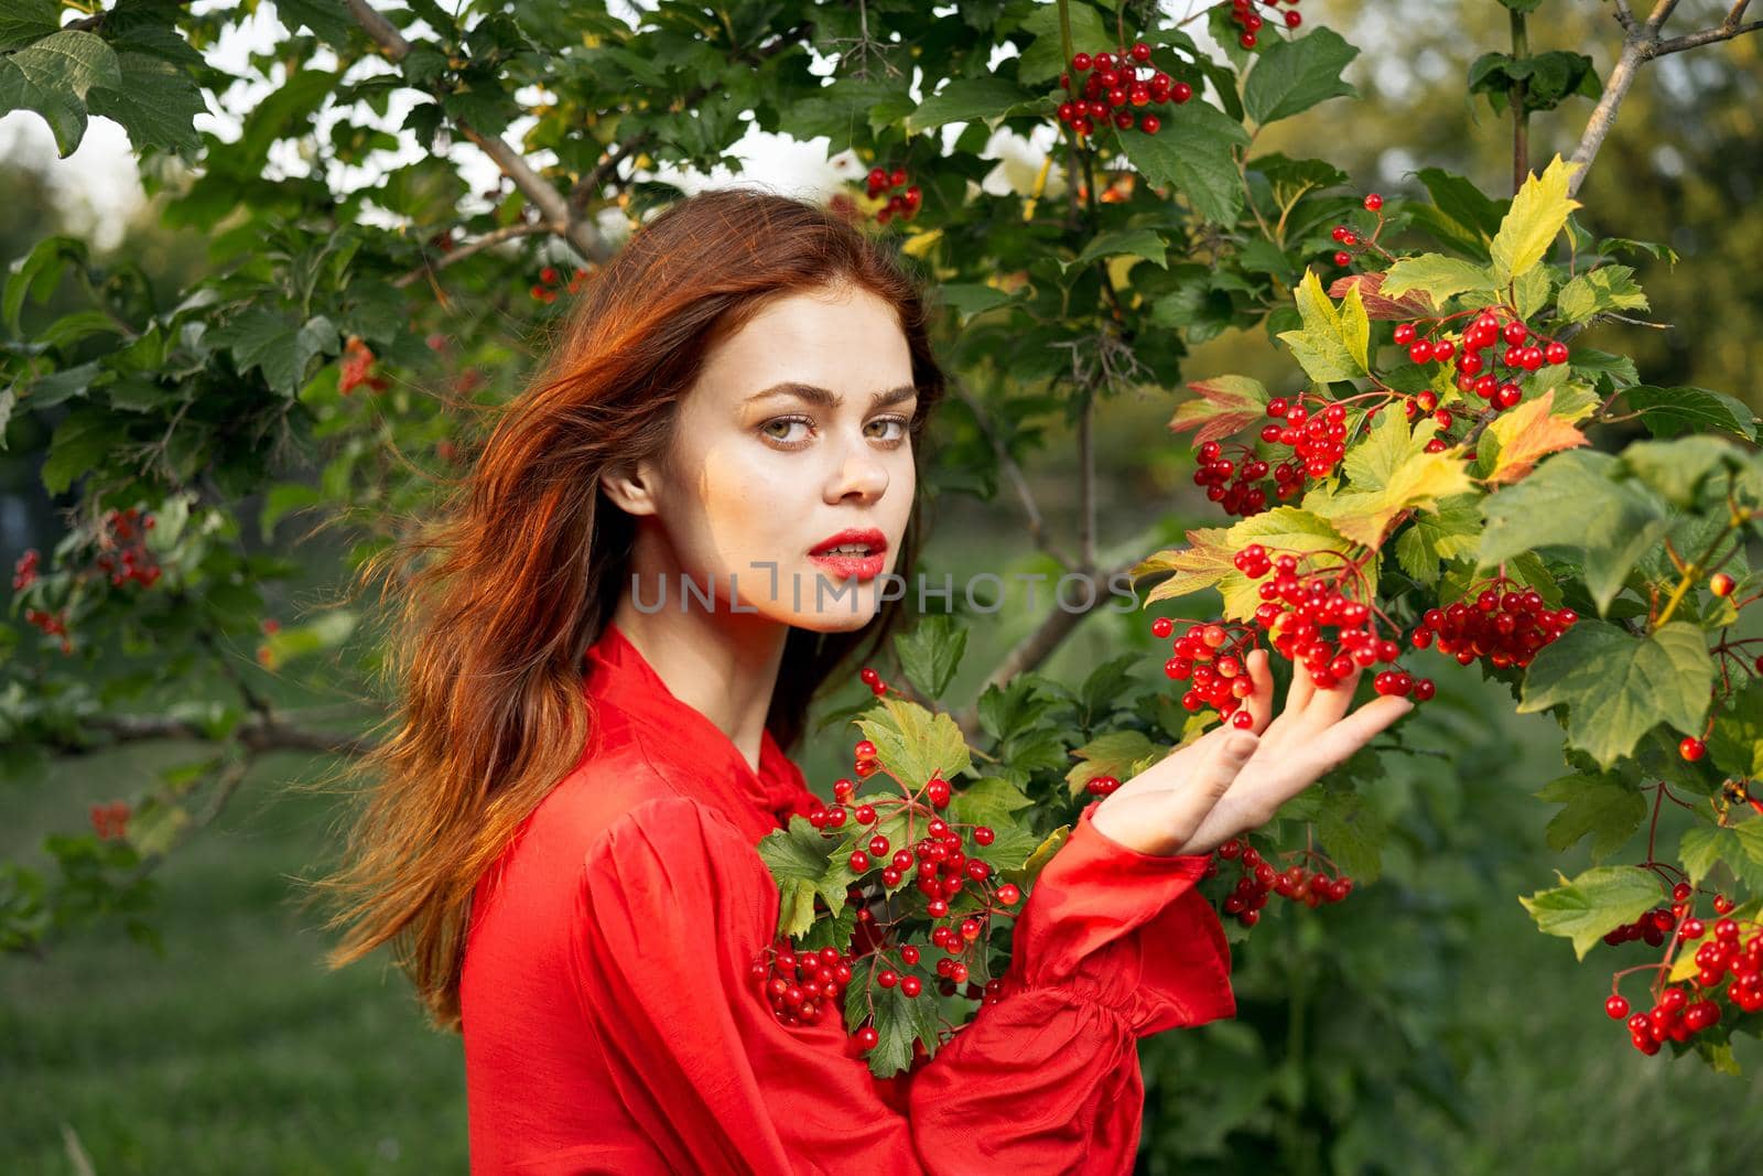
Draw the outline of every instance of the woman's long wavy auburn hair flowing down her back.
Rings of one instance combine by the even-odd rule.
[[[529,386],[494,411],[469,474],[420,531],[363,564],[363,580],[397,571],[383,663],[395,700],[390,735],[342,769],[365,797],[342,867],[312,883],[337,899],[326,929],[347,927],[326,956],[331,968],[390,942],[430,1023],[460,1031],[476,882],[580,762],[594,721],[584,656],[619,601],[635,540],[635,520],[601,494],[601,478],[670,448],[705,354],[769,300],[843,284],[899,312],[917,437],[945,377],[910,263],[816,205],[702,192],[640,226],[591,273]],[[913,451],[922,464],[922,448]],[[915,495],[901,575],[913,571],[922,527]],[[880,652],[901,608],[887,601],[846,633],[790,629],[765,719],[781,748],[795,746],[809,702],[841,665]]]

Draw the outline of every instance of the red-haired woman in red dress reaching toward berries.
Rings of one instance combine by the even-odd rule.
[[[1206,853],[1410,707],[1345,716],[1356,681],[1298,670],[1269,725],[1264,652],[1253,726],[1084,811],[1008,994],[910,1079],[751,980],[777,915],[753,846],[813,802],[785,756],[809,698],[896,621],[941,391],[892,254],[800,201],[693,196],[598,275],[418,545],[333,961],[395,942],[462,1031],[472,1171],[1127,1171],[1135,1040],[1234,1012]]]

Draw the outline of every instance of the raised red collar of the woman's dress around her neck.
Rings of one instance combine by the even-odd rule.
[[[807,792],[802,772],[772,739],[769,726],[760,735],[760,767],[755,772],[735,741],[702,711],[675,696],[612,621],[599,640],[589,645],[584,661],[587,693],[661,735],[666,741],[659,744],[663,749],[689,753],[695,767],[735,781],[737,792],[749,804],[776,815],[779,822],[788,822],[790,813],[800,811],[799,800]]]

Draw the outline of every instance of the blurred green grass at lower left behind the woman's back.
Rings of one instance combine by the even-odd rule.
[[[9,797],[4,857],[129,795],[175,748],[58,767]],[[465,1169],[464,1058],[376,952],[328,971],[287,875],[326,853],[330,802],[273,756],[155,875],[166,957],[118,929],[0,959],[0,1155],[9,1172]]]

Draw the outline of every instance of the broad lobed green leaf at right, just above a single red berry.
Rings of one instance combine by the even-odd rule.
[[[1608,769],[1659,723],[1701,730],[1714,659],[1701,629],[1671,621],[1648,636],[1581,619],[1537,652],[1520,714],[1567,707],[1567,742]]]

